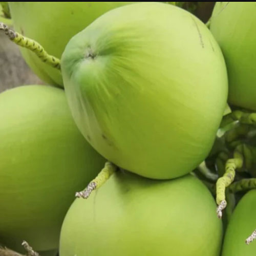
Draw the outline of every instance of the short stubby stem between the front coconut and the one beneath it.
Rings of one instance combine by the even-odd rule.
[[[100,171],[97,177],[89,183],[86,189],[77,192],[75,196],[78,198],[89,198],[92,191],[102,186],[110,178],[110,176],[116,172],[116,170],[117,166],[115,164],[106,162],[104,168]]]

